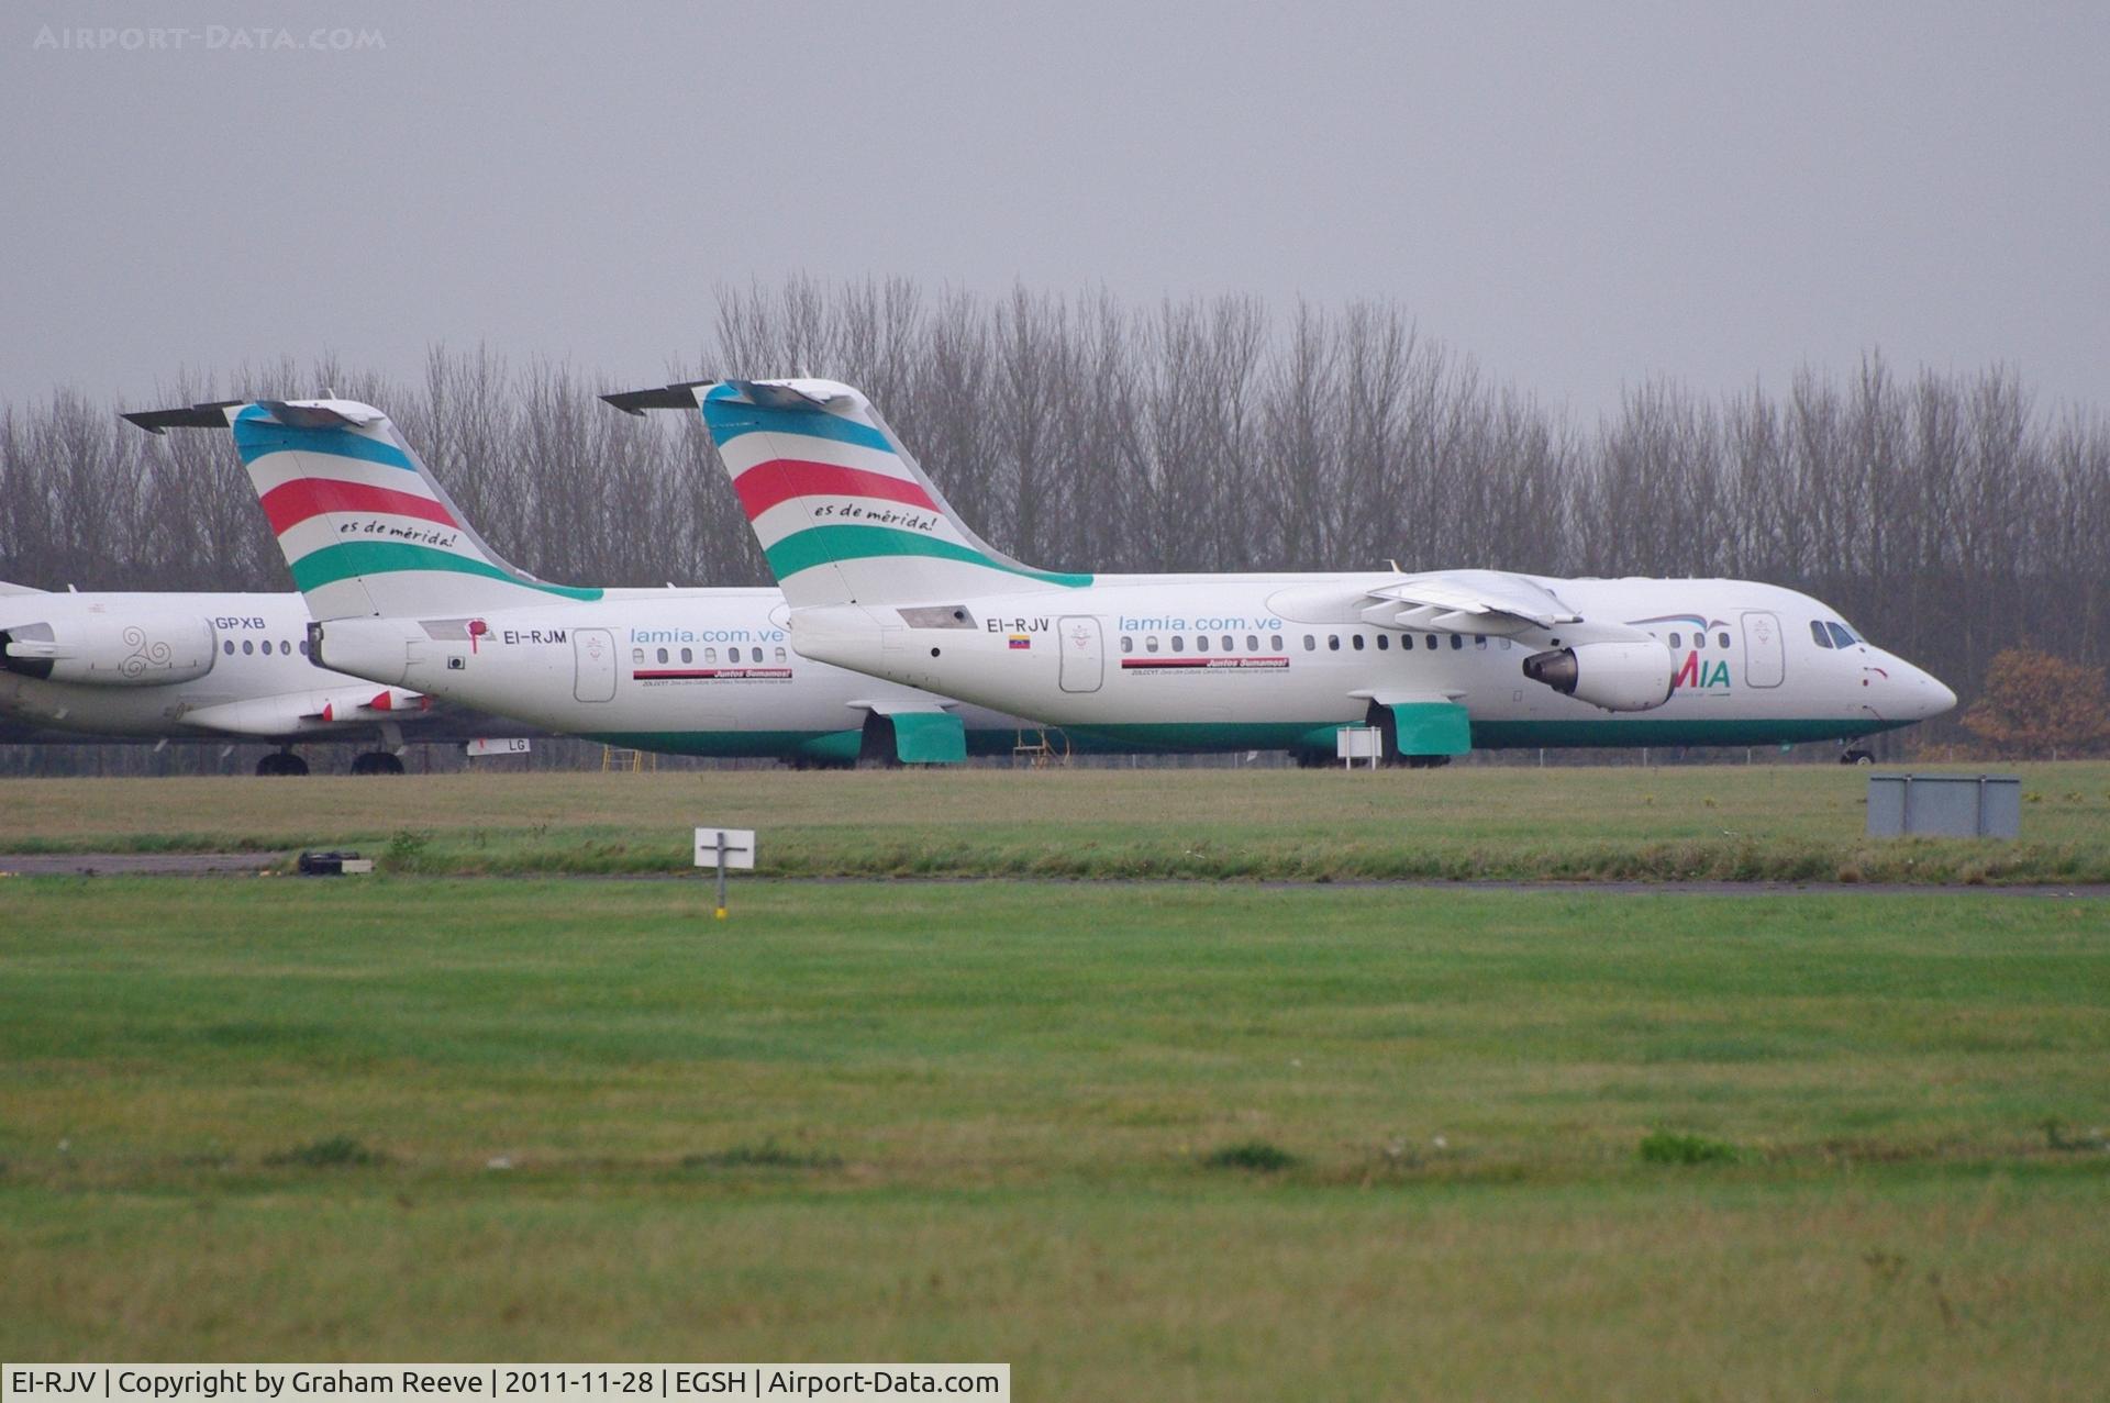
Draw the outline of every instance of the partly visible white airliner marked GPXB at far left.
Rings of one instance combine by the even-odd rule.
[[[300,741],[371,741],[354,774],[401,774],[426,698],[319,671],[300,595],[44,593],[0,584],[4,741],[266,741],[257,774],[306,774]]]

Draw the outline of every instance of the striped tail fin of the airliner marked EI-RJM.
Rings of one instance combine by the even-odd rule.
[[[127,414],[148,433],[230,428],[293,587],[316,618],[452,616],[599,599],[513,568],[468,525],[386,414],[348,399]]]

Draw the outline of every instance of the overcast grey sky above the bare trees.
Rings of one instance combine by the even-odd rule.
[[[17,403],[433,342],[650,380],[789,272],[1384,297],[1582,418],[1878,346],[2110,382],[2102,0],[32,0],[0,188]]]

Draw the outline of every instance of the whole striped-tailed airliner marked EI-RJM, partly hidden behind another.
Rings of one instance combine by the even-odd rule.
[[[213,403],[127,414],[232,430],[314,614],[314,656],[610,745],[686,755],[943,764],[1030,722],[791,652],[774,589],[572,589],[509,565],[376,407]]]

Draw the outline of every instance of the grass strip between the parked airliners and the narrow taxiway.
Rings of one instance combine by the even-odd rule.
[[[2110,764],[2023,776],[2011,844],[1882,840],[1838,766],[6,781],[0,852],[357,846],[397,871],[2110,882]]]

